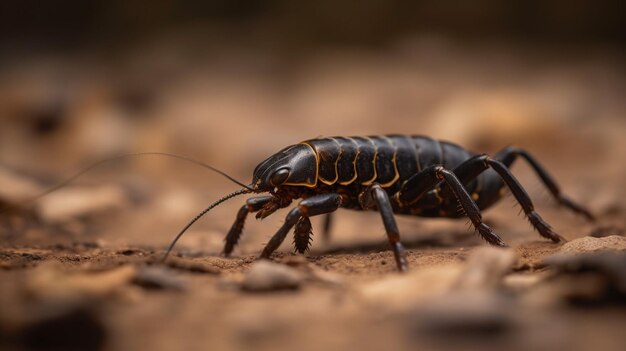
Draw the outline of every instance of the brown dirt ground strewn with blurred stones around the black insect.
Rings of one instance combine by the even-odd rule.
[[[568,50],[425,38],[290,61],[254,47],[146,45],[114,63],[5,66],[0,348],[623,350],[624,57]],[[147,65],[146,53],[159,59]],[[523,147],[597,219],[559,208],[518,161],[514,173],[568,243],[533,232],[508,196],[484,213],[508,249],[488,247],[464,220],[399,217],[410,263],[400,274],[379,215],[346,210],[328,242],[313,220],[304,256],[288,238],[275,265],[256,260],[282,210],[249,219],[234,257],[223,258],[243,197],[209,213],[159,263],[188,220],[237,189],[177,160],[110,162],[29,201],[129,152],[186,155],[247,182],[291,143],[383,133],[477,152]]]

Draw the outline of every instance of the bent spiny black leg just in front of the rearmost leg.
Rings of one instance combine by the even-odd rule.
[[[526,193],[526,190],[524,190],[524,188],[517,181],[515,176],[513,176],[511,171],[502,162],[490,158],[487,155],[478,155],[463,162],[454,170],[454,173],[457,174],[460,179],[463,179],[463,181],[467,183],[488,168],[496,171],[500,178],[502,178],[504,183],[511,190],[511,193],[513,193],[513,196],[515,197],[517,202],[522,206],[522,210],[526,214],[526,217],[528,218],[530,223],[535,229],[537,229],[541,236],[543,236],[544,238],[548,238],[556,243],[561,241],[567,241],[563,237],[555,233],[550,225],[546,223],[541,218],[541,216],[539,216],[539,214],[535,211],[535,207],[530,200],[530,197]]]

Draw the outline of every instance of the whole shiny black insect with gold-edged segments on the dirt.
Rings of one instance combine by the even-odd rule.
[[[561,205],[593,220],[591,213],[564,196],[548,172],[522,149],[507,147],[490,157],[425,136],[320,138],[286,147],[270,156],[254,169],[251,184],[235,181],[243,189],[226,195],[198,214],[176,236],[163,259],[200,217],[222,202],[248,193],[269,195],[250,198],[241,207],[226,235],[226,256],[239,241],[248,213],[256,212],[257,218],[265,218],[295,199],[303,200],[289,211],[261,258],[269,258],[294,227],[296,251],[304,253],[311,239],[309,217],[330,214],[340,207],[380,212],[400,271],[405,271],[408,265],[394,213],[467,216],[489,244],[505,246],[480,214],[501,198],[505,186],[541,236],[556,243],[564,241],[535,211],[528,194],[509,171],[518,157],[530,164]]]

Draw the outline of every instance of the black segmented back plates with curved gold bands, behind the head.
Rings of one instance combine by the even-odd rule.
[[[431,165],[454,169],[471,154],[460,146],[424,136],[387,135],[313,139],[318,156],[318,183],[383,188],[402,182]]]

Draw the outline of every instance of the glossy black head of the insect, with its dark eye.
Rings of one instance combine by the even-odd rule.
[[[252,184],[255,191],[273,191],[281,186],[315,186],[317,156],[307,144],[284,148],[255,169]]]

